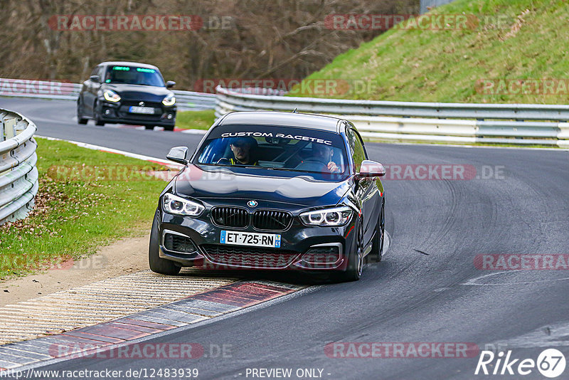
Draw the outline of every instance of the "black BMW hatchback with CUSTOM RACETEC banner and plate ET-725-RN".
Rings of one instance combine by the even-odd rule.
[[[162,191],[149,264],[306,270],[358,280],[383,254],[385,169],[351,122],[286,112],[220,119]]]

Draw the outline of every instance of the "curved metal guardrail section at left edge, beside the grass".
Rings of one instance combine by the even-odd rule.
[[[38,193],[37,127],[26,117],[0,109],[0,225],[25,218]]]

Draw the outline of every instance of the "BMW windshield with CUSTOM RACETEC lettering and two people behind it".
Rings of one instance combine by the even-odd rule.
[[[348,168],[339,134],[299,127],[222,125],[203,142],[194,164],[344,173]]]

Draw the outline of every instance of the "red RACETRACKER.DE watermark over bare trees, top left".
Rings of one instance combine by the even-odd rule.
[[[199,31],[235,27],[233,16],[58,14],[48,19],[54,31]]]

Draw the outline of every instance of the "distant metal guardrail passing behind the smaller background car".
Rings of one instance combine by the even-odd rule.
[[[80,83],[48,80],[0,78],[0,96],[37,97],[77,101]],[[194,91],[174,90],[179,110],[210,110],[216,107],[216,95]]]

